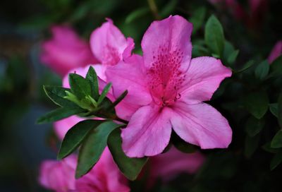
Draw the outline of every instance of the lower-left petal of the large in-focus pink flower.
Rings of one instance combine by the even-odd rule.
[[[170,115],[166,108],[157,106],[138,109],[121,133],[125,154],[144,157],[161,153],[171,137]]]

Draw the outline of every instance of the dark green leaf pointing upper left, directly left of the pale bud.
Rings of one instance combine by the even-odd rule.
[[[74,106],[73,102],[70,102],[66,100],[63,97],[66,97],[66,91],[71,91],[68,88],[61,88],[58,86],[48,86],[44,85],[43,89],[46,93],[46,95],[54,102],[55,104],[61,106],[61,107],[68,107],[68,106]]]

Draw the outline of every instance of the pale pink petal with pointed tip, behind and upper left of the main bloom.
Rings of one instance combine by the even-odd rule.
[[[102,64],[110,66],[116,65],[118,61],[123,59],[125,49],[125,56],[128,56],[134,48],[133,40],[130,39],[127,41],[110,19],[92,32],[90,45],[94,56]]]

